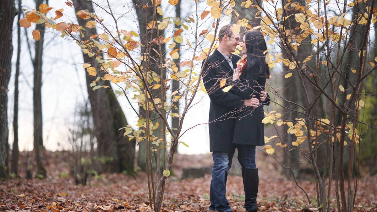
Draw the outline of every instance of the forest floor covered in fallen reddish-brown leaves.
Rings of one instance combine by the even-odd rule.
[[[69,152],[44,152],[43,163],[48,173],[45,180],[25,178],[26,153],[20,155],[20,178],[0,182],[0,211],[152,211],[149,208],[146,173],[136,175],[102,174],[91,177],[89,186],[76,186],[69,174]],[[33,161],[33,157],[29,161]],[[162,211],[208,211],[211,175],[204,178],[179,180],[183,167],[211,165],[211,154],[175,155],[173,174],[167,178]],[[233,161],[238,163],[238,161]],[[280,175],[274,159],[257,153],[259,169],[259,211],[318,211],[316,189],[310,180],[300,180],[311,198],[307,198],[292,180]],[[34,177],[33,173],[33,177]],[[333,181],[333,184],[335,182]],[[377,211],[377,176],[359,180],[354,211]],[[336,211],[335,192],[332,211]],[[234,211],[243,211],[242,177],[229,176],[227,199]]]

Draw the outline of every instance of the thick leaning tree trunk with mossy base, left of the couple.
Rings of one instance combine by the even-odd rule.
[[[74,0],[73,3],[76,13],[80,10],[87,10],[94,13],[93,5],[90,1]],[[91,19],[84,20],[80,17],[77,18],[79,25],[85,29],[83,32],[84,37],[81,37],[81,40],[90,40],[90,35],[97,34],[96,28],[86,28],[86,23]],[[97,52],[96,56],[103,57],[103,54]],[[89,57],[87,54],[83,53],[83,57],[85,63],[90,63],[90,65],[97,70],[101,69],[101,65],[97,62],[95,56]],[[101,88],[93,91],[90,87],[90,83],[92,83],[93,80],[103,76],[104,73],[100,71],[97,72],[97,76],[86,74],[86,85],[92,108],[94,132],[97,138],[98,156],[108,159],[112,158],[113,160],[113,162],[110,162],[110,166],[107,166],[108,169],[102,171],[127,171],[131,173],[133,172],[135,160],[135,139],[129,140],[127,136],[123,137],[122,131],[119,131],[120,128],[128,125],[128,123],[111,89],[110,81],[97,81],[97,85],[109,86],[107,89]]]

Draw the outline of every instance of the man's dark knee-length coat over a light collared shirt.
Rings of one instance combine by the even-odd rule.
[[[238,55],[232,54],[233,67],[240,59]],[[203,61],[204,63],[204,61]],[[210,114],[208,118],[208,129],[210,135],[210,151],[233,152],[234,145],[233,131],[236,118],[234,114],[244,105],[244,98],[234,95],[232,92],[223,92],[222,89],[233,84],[231,69],[224,56],[216,49],[208,56],[207,63],[202,64],[203,83],[210,97]],[[220,88],[220,80],[227,79],[225,86]],[[234,87],[234,86],[233,86]],[[233,117],[232,117],[233,115]]]

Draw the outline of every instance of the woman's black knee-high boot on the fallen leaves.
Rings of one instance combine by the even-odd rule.
[[[244,169],[245,208],[247,212],[258,211],[258,169]]]

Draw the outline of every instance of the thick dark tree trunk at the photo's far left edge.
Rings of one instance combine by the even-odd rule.
[[[0,179],[8,178],[8,84],[12,63],[12,27],[17,15],[14,0],[0,4]]]

